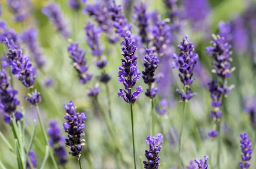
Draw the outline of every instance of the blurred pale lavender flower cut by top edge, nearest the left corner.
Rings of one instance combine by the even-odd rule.
[[[29,17],[29,1],[28,0],[7,0],[10,11],[14,14],[15,22],[23,22]]]

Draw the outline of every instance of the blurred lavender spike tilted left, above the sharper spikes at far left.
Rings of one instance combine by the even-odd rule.
[[[42,50],[37,42],[38,32],[35,28],[30,28],[28,30],[23,31],[20,35],[20,39],[26,43],[29,48],[30,53],[34,57],[35,63],[38,67],[44,65],[45,61],[42,59]]]

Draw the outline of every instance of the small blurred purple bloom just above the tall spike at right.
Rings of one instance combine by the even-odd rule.
[[[232,40],[231,24],[229,22],[220,21],[218,23],[219,35],[225,38],[225,42]]]

